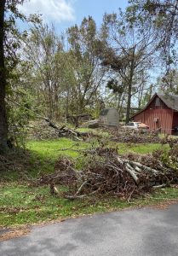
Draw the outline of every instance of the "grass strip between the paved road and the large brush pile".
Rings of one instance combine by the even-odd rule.
[[[62,189],[61,189],[62,190]],[[178,189],[159,189],[146,198],[124,201],[105,195],[68,201],[50,195],[49,187],[29,188],[17,183],[0,188],[0,227],[37,224],[59,218],[74,218],[95,212],[122,210],[127,207],[142,207],[178,199]]]

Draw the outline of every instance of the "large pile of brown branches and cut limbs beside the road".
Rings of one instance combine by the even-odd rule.
[[[144,195],[152,188],[178,183],[178,169],[165,166],[157,156],[130,154],[121,157],[113,148],[96,148],[81,172],[75,171],[68,160],[60,160],[55,173],[41,177],[39,184],[49,183],[51,192],[66,199],[89,195],[115,195],[130,199]],[[65,185],[68,192],[60,193],[55,184]]]

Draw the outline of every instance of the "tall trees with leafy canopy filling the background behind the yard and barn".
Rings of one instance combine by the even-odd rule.
[[[100,27],[89,16],[62,34],[21,14],[22,3],[1,1],[3,146],[39,115],[65,122],[82,113],[96,118],[113,107],[129,121],[155,84],[177,92],[177,1],[130,0],[124,12],[105,14]],[[29,22],[30,30],[19,32],[17,19]]]

